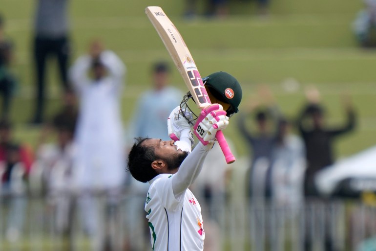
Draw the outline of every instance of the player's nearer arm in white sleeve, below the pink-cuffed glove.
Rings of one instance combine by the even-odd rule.
[[[196,180],[201,172],[210,146],[199,143],[181,164],[179,171],[172,177],[172,190],[179,197]]]

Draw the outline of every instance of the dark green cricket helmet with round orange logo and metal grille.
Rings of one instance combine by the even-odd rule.
[[[238,107],[242,100],[242,89],[239,82],[233,76],[227,72],[218,71],[203,78],[202,81],[204,82],[211,103],[222,105],[228,117],[239,112]],[[188,122],[193,125],[197,115],[188,107],[188,101],[191,98],[192,95],[188,92],[184,96],[180,108],[183,111],[182,114],[185,114],[186,110],[189,110],[193,114],[193,119],[187,118]]]

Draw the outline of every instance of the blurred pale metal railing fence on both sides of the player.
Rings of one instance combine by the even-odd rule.
[[[0,198],[1,251],[151,250],[144,194]],[[358,200],[212,200],[205,251],[374,251],[376,207]]]

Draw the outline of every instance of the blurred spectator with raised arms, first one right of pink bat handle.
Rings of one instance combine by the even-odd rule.
[[[268,88],[261,87],[258,97],[265,104],[251,100],[246,114],[239,116],[238,127],[250,146],[251,166],[247,177],[248,196],[264,197],[267,195],[269,197],[271,195],[272,151],[278,135],[280,114]],[[255,112],[256,107],[258,107],[257,112]],[[251,114],[254,114],[257,132],[251,132],[247,124],[246,118]]]

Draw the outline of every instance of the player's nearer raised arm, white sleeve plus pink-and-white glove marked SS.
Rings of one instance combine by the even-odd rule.
[[[182,119],[185,120],[184,117]],[[201,144],[199,143],[193,149],[180,165],[179,171],[172,177],[172,190],[176,199],[183,195],[189,185],[195,181],[202,169],[207,153],[214,144],[215,134],[217,131],[225,129],[228,124],[229,117],[226,116],[226,111],[219,104],[209,105],[201,111],[193,127]],[[188,123],[187,125],[190,129]],[[180,137],[180,139],[185,140],[183,137]],[[178,145],[179,141],[175,144]]]

